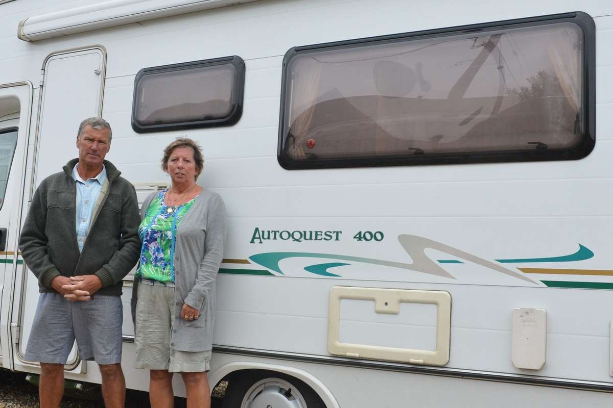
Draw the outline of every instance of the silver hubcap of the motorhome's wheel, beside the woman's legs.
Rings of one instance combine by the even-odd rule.
[[[307,403],[286,380],[265,378],[251,385],[240,408],[307,408]]]

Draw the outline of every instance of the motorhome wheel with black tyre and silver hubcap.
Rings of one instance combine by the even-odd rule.
[[[224,408],[326,408],[303,381],[275,371],[253,370],[234,374]]]

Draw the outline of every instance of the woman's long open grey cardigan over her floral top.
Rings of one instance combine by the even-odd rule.
[[[143,202],[141,220],[158,194],[159,191],[154,191]],[[175,322],[170,339],[172,349],[208,351],[213,348],[215,278],[223,258],[226,234],[226,208],[223,200],[213,191],[202,190],[177,229],[174,259]],[[134,280],[132,288],[132,321],[135,319],[138,281]],[[181,319],[183,303],[199,310],[199,318],[194,321]]]

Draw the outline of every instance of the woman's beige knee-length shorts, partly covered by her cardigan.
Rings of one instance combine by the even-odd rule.
[[[170,347],[175,320],[175,288],[142,280],[136,305],[135,368],[198,373],[211,369],[210,351],[177,351]]]

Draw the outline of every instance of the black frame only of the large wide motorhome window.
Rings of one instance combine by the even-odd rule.
[[[379,157],[356,158],[309,158],[294,160],[286,152],[286,136],[289,129],[284,128],[286,115],[286,87],[288,83],[287,68],[289,62],[303,51],[313,50],[343,50],[358,45],[375,45],[394,43],[406,39],[432,39],[450,34],[469,34],[475,32],[497,31],[500,29],[525,28],[533,26],[546,26],[557,23],[576,24],[584,35],[582,94],[581,94],[581,139],[572,147],[562,149],[536,149],[535,150],[506,150],[492,152],[466,152],[466,153],[440,153],[428,155],[390,155]],[[506,163],[517,161],[548,161],[548,160],[578,160],[592,152],[596,143],[596,26],[593,18],[585,12],[544,15],[540,17],[519,18],[514,20],[493,21],[490,23],[470,24],[450,28],[433,29],[425,31],[405,32],[402,34],[381,35],[362,39],[320,43],[314,45],[297,46],[291,48],[283,58],[283,76],[281,78],[281,106],[279,117],[279,136],[277,145],[277,160],[281,167],[287,170],[294,169],[322,169],[322,168],[352,168],[373,166],[411,166],[411,165],[449,165],[468,163]]]

